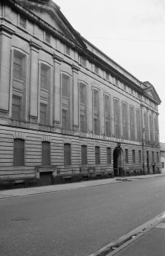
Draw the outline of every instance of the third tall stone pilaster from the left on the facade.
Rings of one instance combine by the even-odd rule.
[[[53,124],[56,127],[61,126],[61,63],[62,57],[53,55],[54,60],[54,78],[53,78]]]

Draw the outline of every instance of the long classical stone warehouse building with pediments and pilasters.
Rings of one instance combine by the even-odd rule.
[[[0,0],[0,180],[157,173],[159,104],[51,0]]]

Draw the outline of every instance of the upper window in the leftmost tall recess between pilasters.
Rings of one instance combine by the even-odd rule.
[[[16,79],[24,78],[24,55],[14,50],[13,76]]]

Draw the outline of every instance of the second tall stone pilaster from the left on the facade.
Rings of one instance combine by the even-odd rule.
[[[40,46],[30,41],[30,122],[38,121],[38,100],[39,100],[39,51]]]

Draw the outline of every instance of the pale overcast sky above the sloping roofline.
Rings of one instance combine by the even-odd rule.
[[[53,0],[83,37],[154,85],[165,142],[165,0]]]

